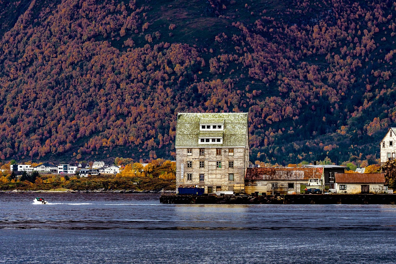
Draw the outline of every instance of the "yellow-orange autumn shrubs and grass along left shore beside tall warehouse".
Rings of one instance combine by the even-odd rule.
[[[117,161],[128,163],[126,159],[118,158]],[[122,172],[116,175],[99,174],[88,177],[80,177],[78,173],[75,175],[40,175],[38,171],[32,173],[23,172],[21,176],[17,176],[15,172],[4,170],[2,176],[0,176],[0,191],[12,191],[15,189],[30,191],[174,191],[176,186],[175,172],[176,163],[174,161],[164,161],[163,159],[152,160],[145,166],[140,163],[129,163]]]

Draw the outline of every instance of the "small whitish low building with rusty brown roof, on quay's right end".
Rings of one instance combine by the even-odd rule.
[[[337,193],[383,193],[383,173],[336,173]]]

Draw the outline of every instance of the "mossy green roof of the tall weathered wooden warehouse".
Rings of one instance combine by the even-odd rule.
[[[224,122],[223,132],[200,131],[200,124]],[[216,124],[221,124],[216,123]],[[220,137],[223,143],[198,144],[199,137]],[[203,136],[207,135],[207,136]],[[179,113],[177,115],[175,147],[245,147],[247,145],[247,113]]]

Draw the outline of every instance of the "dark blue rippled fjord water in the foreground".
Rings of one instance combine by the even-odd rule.
[[[37,195],[37,194],[36,194]],[[0,263],[394,263],[395,205],[163,205],[0,194]]]

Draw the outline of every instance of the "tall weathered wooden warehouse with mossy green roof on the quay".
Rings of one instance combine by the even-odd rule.
[[[179,113],[175,148],[176,189],[198,185],[205,193],[245,191],[247,113]]]

